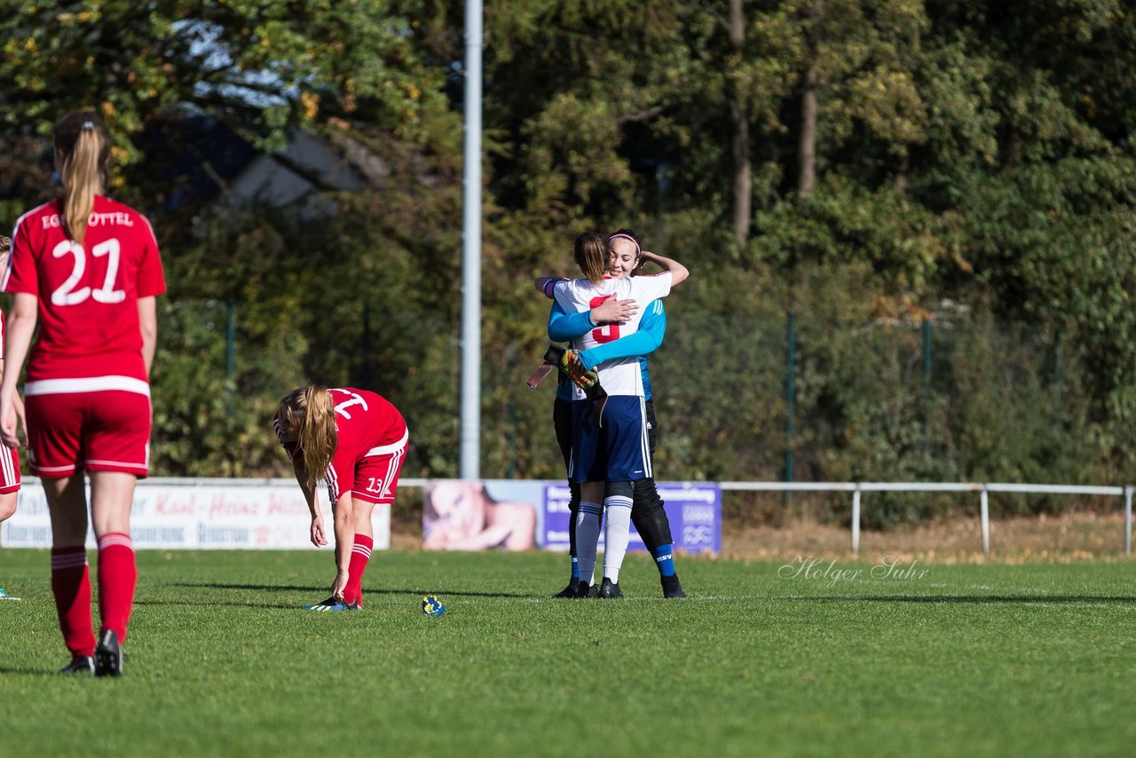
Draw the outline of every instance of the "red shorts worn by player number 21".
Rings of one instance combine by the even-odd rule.
[[[76,470],[147,475],[150,461],[150,398],[107,390],[30,394],[28,467],[58,478]]]

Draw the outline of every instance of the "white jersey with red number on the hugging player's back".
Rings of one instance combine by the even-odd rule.
[[[642,305],[667,297],[670,292],[671,278],[670,272],[663,272],[651,276],[603,280],[599,284],[592,284],[587,280],[571,280],[557,283],[552,294],[560,307],[569,314],[591,310],[611,297],[619,300],[637,300]],[[638,331],[642,315],[643,309],[641,308],[626,322],[598,326],[576,340],[575,347],[583,351],[634,334]],[[608,394],[643,397],[643,372],[640,369],[638,358],[605,360],[596,368],[600,373],[600,384],[603,385]],[[574,388],[573,395],[575,400],[584,399],[584,392],[579,388]]]

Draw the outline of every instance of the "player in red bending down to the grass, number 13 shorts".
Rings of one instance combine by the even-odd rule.
[[[375,506],[390,507],[407,452],[407,423],[399,409],[368,390],[296,388],[281,400],[273,419],[276,436],[292,458],[296,482],[311,511],[311,542],[327,544],[316,484],[327,482],[335,535],[332,597],[304,610],[357,610],[362,575],[375,535]]]

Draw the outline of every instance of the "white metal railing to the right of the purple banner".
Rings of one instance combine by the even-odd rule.
[[[1125,555],[1133,549],[1133,490],[1134,485],[1092,486],[1077,484],[1004,484],[950,482],[719,482],[725,490],[749,492],[851,492],[852,493],[852,552],[860,552],[860,493],[862,492],[978,492],[979,518],[983,528],[983,552],[991,551],[991,492],[1024,494],[1096,494],[1125,499]]]

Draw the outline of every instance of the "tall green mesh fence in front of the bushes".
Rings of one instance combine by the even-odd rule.
[[[661,477],[769,482],[785,492],[801,480],[1130,481],[1136,444],[1108,416],[1074,336],[961,313],[858,322],[828,317],[816,305],[824,297],[813,300],[812,311],[795,315],[684,314],[676,300],[650,359]],[[351,303],[298,328],[294,314],[266,303],[167,303],[154,373],[154,474],[286,475],[265,430],[277,399],[307,377],[378,390],[411,427],[406,475],[457,476],[458,326],[434,314],[416,315],[408,328],[396,309],[374,310]],[[560,478],[552,382],[525,386],[546,345],[543,330],[534,324],[520,340],[507,326],[487,325],[492,339],[483,343],[479,476]],[[1009,492],[987,490],[1001,491]],[[953,508],[949,498],[885,492],[861,514],[864,526],[921,523]],[[1055,490],[1038,492],[1044,497],[1019,511],[1060,508]],[[829,503],[846,517],[846,503]],[[1006,505],[989,507],[1001,515]]]

